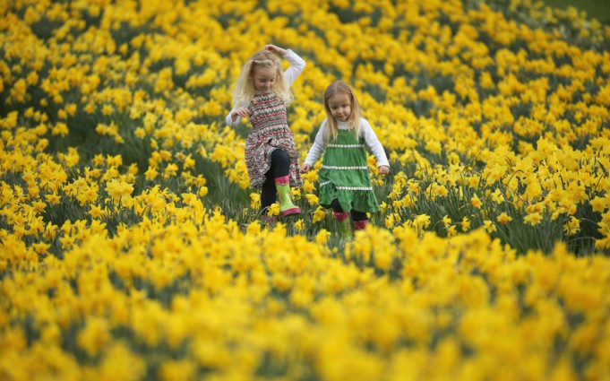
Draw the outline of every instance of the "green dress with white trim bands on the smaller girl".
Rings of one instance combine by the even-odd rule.
[[[326,208],[338,199],[343,212],[380,210],[368,173],[365,139],[352,131],[339,128],[337,139],[326,146],[318,181],[320,204]]]

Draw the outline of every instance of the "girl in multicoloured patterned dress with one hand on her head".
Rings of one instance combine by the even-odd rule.
[[[279,54],[290,67],[282,73]],[[279,195],[282,216],[300,213],[292,203],[290,186],[300,187],[299,152],[288,127],[286,106],[292,101],[290,85],[295,82],[305,61],[290,49],[266,45],[244,65],[234,92],[234,108],[227,116],[228,126],[237,126],[248,117],[252,131],[245,142],[245,166],[250,185],[261,189],[261,207],[266,215]],[[265,217],[271,221],[271,217]]]

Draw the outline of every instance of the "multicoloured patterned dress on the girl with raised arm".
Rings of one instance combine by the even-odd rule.
[[[275,92],[256,94],[248,106],[252,131],[245,141],[245,167],[250,186],[261,188],[271,167],[271,152],[282,149],[290,156],[290,186],[303,186],[299,152],[288,127],[286,106]]]

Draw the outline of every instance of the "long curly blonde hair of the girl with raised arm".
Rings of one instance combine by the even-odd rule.
[[[275,86],[272,91],[275,92],[279,99],[287,106],[292,102],[292,91],[290,91],[288,84],[284,80],[279,57],[270,51],[261,50],[254,53],[242,67],[242,72],[239,74],[235,90],[233,91],[233,101],[235,105],[245,106],[254,98],[254,95],[256,94],[253,80],[254,72],[258,68],[270,67],[276,69]]]

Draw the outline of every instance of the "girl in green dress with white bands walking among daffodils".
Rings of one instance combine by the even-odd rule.
[[[360,117],[360,107],[348,83],[332,82],[324,91],[326,119],[309,150],[301,172],[308,172],[320,159],[318,172],[320,204],[332,208],[339,222],[341,238],[352,237],[349,216],[355,229],[365,229],[366,212],[379,212],[366,161],[366,148],[373,152],[379,173],[387,175],[390,164],[368,121]]]

